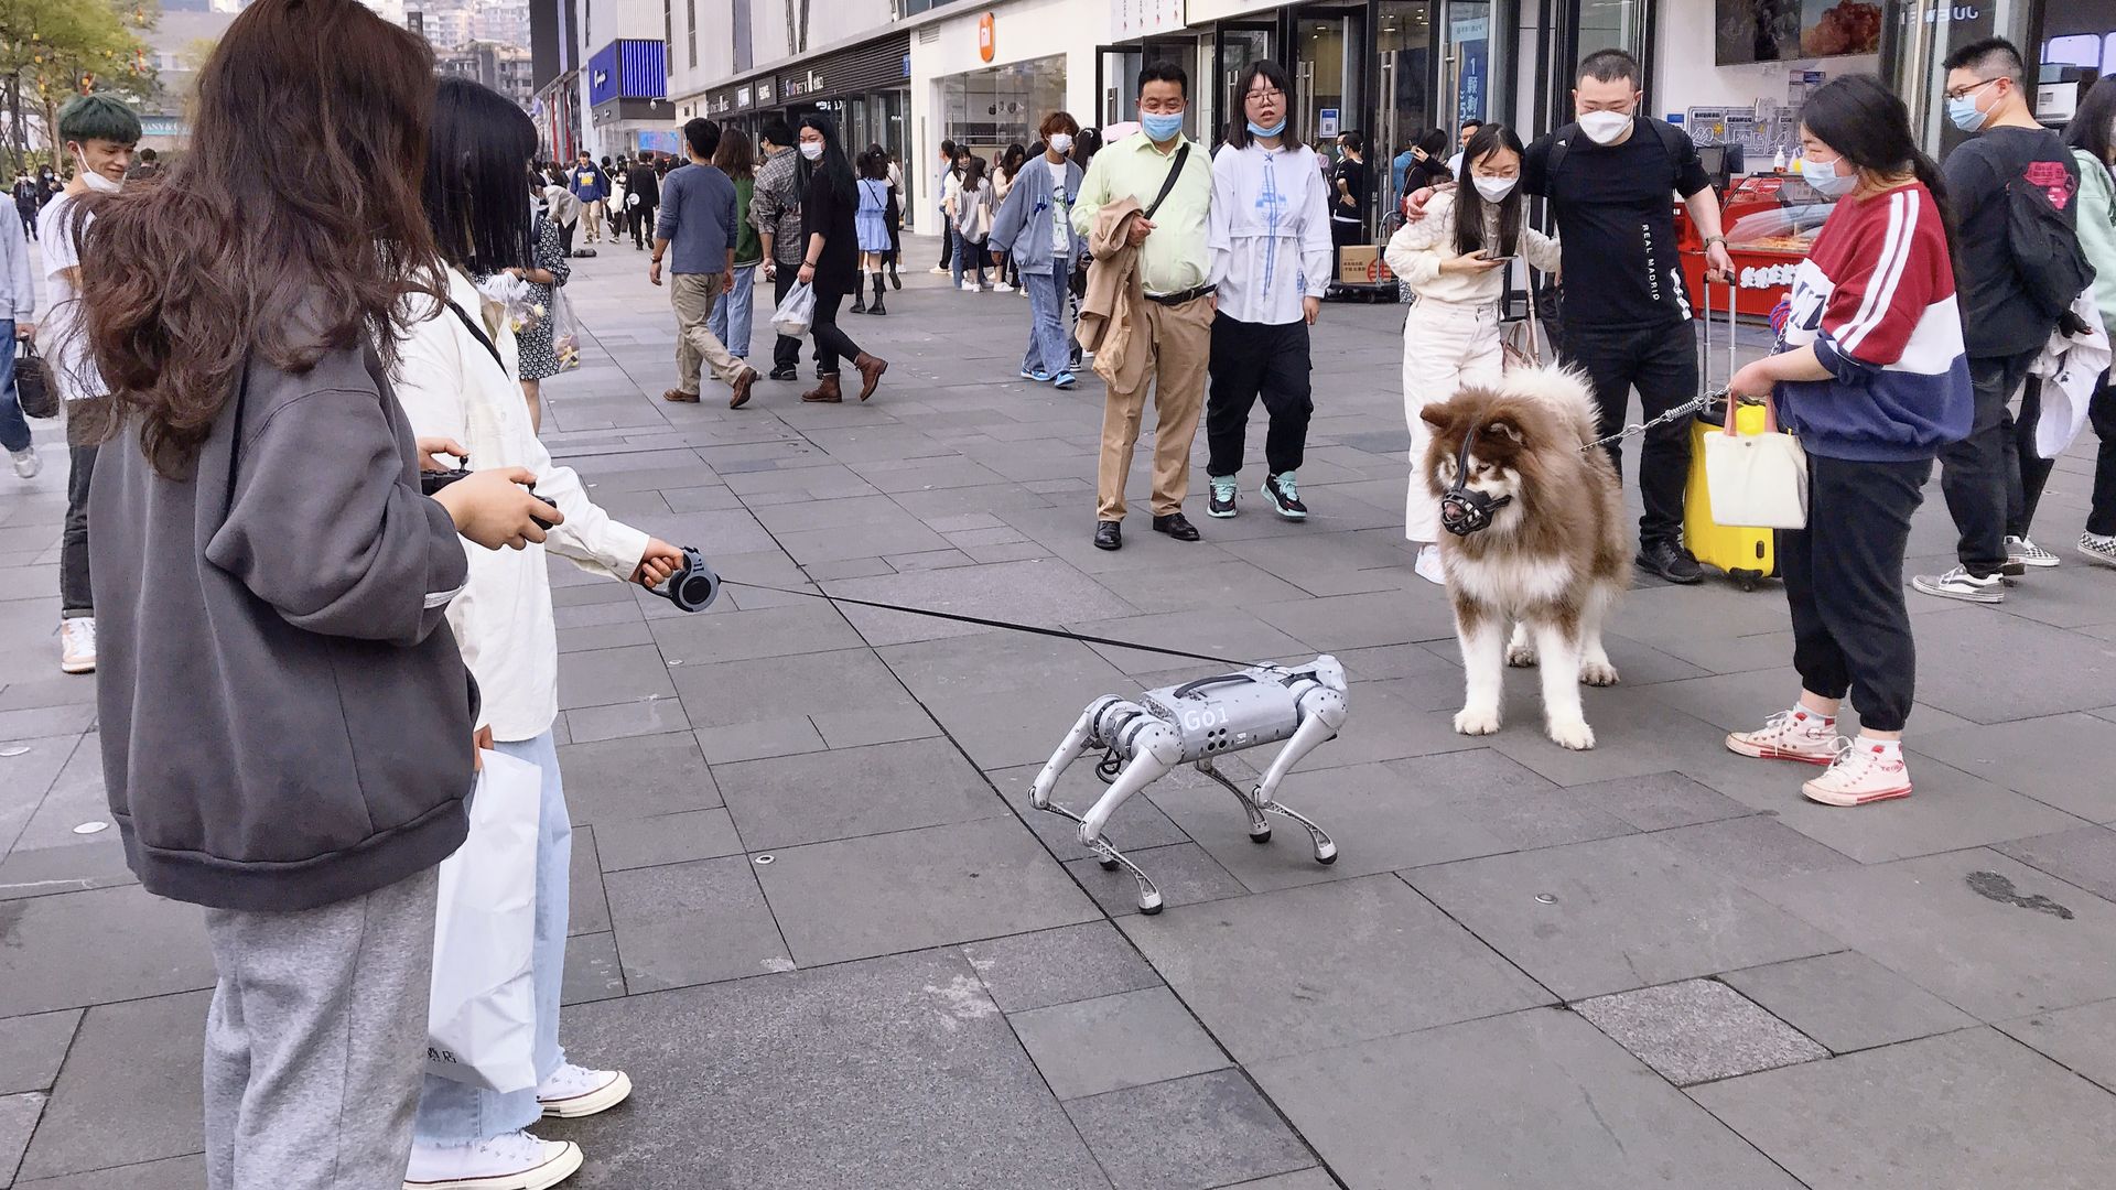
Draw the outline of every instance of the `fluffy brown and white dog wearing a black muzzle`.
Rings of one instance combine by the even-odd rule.
[[[1602,620],[1627,584],[1631,538],[1617,468],[1581,449],[1595,436],[1585,377],[1511,371],[1420,415],[1433,426],[1420,472],[1443,502],[1441,563],[1469,686],[1456,731],[1496,733],[1507,665],[1540,659],[1551,739],[1593,747],[1579,686],[1617,684]]]

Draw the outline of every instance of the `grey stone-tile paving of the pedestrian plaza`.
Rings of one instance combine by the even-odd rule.
[[[565,1042],[639,1084],[548,1129],[588,1152],[569,1186],[2116,1186],[2116,574],[2063,548],[2000,608],[1913,595],[1917,796],[1824,809],[1720,747],[1796,692],[1775,591],[1642,582],[1595,752],[1540,735],[1526,673],[1500,735],[1452,733],[1447,606],[1401,531],[1399,307],[1325,311],[1310,523],[1270,517],[1257,462],[1240,519],[1191,502],[1204,542],[1141,508],[1109,555],[1100,383],[1016,379],[1020,296],[920,269],[844,315],[893,360],[872,402],[760,383],[728,411],[656,400],[641,254],[569,294],[592,341],[546,385],[552,451],[730,580],[1354,678],[1284,788],[1344,858],[1253,845],[1179,773],[1111,830],[1168,896],[1141,917],[1028,779],[1090,699],[1208,665],[734,584],[683,616],[554,565]],[[78,834],[108,815],[93,682],[57,673],[47,459],[0,479],[0,1186],[199,1186],[212,963],[197,910]],[[2086,483],[2076,449],[2046,544]],[[1951,540],[1934,487],[1911,567]],[[1098,790],[1079,764],[1060,800]]]

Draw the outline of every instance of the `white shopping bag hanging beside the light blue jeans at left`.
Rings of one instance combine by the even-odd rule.
[[[487,1086],[535,1086],[535,843],[544,773],[497,752],[470,798],[470,839],[440,862],[425,1071]]]

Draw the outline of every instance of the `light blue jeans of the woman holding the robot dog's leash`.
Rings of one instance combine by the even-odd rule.
[[[527,760],[544,771],[542,826],[535,847],[535,951],[529,959],[535,980],[535,1076],[552,1076],[565,1063],[559,1048],[559,987],[565,980],[567,875],[573,860],[573,819],[565,811],[565,786],[559,781],[559,750],[550,733],[518,743],[493,745],[501,756]],[[425,1143],[470,1143],[516,1129],[527,1129],[544,1116],[535,1088],[506,1095],[425,1076],[419,1093],[419,1122],[413,1135]]]

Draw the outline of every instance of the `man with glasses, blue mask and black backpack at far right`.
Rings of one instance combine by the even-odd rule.
[[[2057,133],[2036,123],[2021,85],[2021,51],[2012,42],[1966,44],[1947,55],[1945,66],[1947,114],[1962,131],[1976,133],[1942,169],[1962,254],[1957,296],[1976,419],[1968,438],[1940,451],[1940,491],[1962,531],[1959,565],[1921,574],[1911,587],[1942,599],[1998,603],[2006,597],[2004,574],[2057,565],[2055,555],[2027,540],[2033,512],[2027,491],[2040,493],[2048,479],[2048,462],[2036,453],[2036,419],[2014,426],[2006,409],[2057,330],[2057,315],[2029,299],[2014,256],[2014,191],[2023,199],[2048,199],[2069,224],[2080,169]]]

